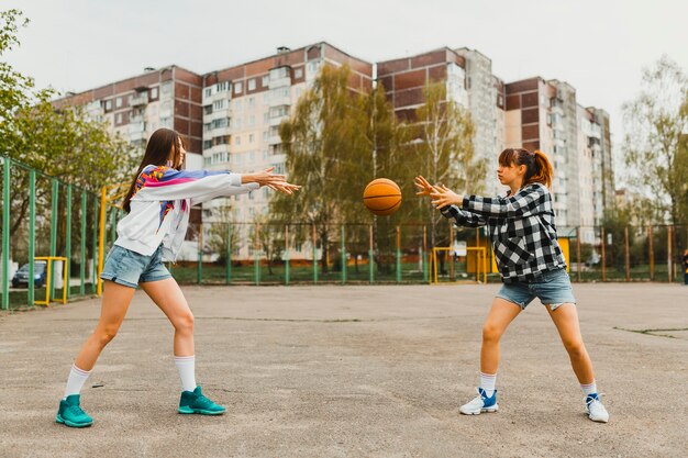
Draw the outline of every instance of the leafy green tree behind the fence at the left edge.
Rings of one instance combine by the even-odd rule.
[[[20,45],[18,31],[29,20],[19,10],[0,11],[0,57]],[[112,136],[103,123],[89,119],[79,108],[56,110],[51,103],[55,92],[36,90],[34,80],[0,62],[0,150],[36,170],[80,188],[99,191],[101,186],[129,181],[135,158],[127,142]],[[29,175],[12,168],[10,235],[13,247],[16,233],[25,226],[29,209]],[[51,183],[36,182],[36,214],[49,212]],[[58,253],[66,233],[64,193],[58,205]],[[89,226],[93,224],[89,215]],[[78,233],[78,219],[73,234]],[[89,245],[89,249],[91,249]]]

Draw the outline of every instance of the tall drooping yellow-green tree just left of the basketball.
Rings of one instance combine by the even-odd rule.
[[[315,225],[323,272],[336,237],[333,223],[362,221],[359,193],[371,175],[366,116],[360,94],[348,88],[348,76],[347,67],[324,66],[293,115],[279,126],[289,179],[303,191],[277,194],[270,213],[274,221],[286,223],[298,215]]]

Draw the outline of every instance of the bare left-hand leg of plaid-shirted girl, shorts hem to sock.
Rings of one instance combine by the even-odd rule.
[[[497,373],[499,368],[499,339],[509,324],[521,313],[513,302],[495,298],[492,309],[482,325],[482,347],[480,348],[480,371]]]

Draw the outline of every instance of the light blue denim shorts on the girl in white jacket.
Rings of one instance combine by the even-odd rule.
[[[106,257],[100,278],[136,288],[138,283],[165,280],[171,278],[171,275],[163,264],[163,245],[151,256],[114,245]]]

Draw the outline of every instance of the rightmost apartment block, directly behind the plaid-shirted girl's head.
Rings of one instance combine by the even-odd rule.
[[[599,224],[604,205],[613,204],[604,200],[613,189],[607,174],[611,170],[609,116],[602,110],[581,108],[575,89],[555,79],[510,82],[506,92],[507,147],[541,149],[552,160],[558,225]]]

